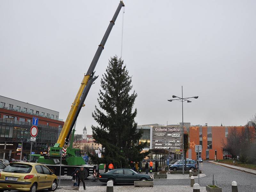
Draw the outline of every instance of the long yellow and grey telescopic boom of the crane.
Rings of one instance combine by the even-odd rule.
[[[84,107],[84,100],[92,86],[93,81],[95,81],[95,79],[98,76],[94,76],[94,69],[96,67],[96,64],[100,58],[100,54],[104,49],[104,45],[108,39],[108,36],[113,28],[113,26],[115,25],[115,21],[116,18],[121,10],[121,8],[124,6],[123,1],[120,1],[116,12],[112,18],[112,20],[110,21],[108,28],[99,44],[99,47],[92,59],[92,63],[87,71],[87,73],[84,75],[84,79],[80,85],[80,88],[78,90],[78,93],[76,94],[76,98],[74,100],[74,102],[72,103],[71,109],[68,113],[68,117],[64,123],[64,126],[60,132],[60,136],[57,140],[57,143],[54,145],[54,147],[63,147],[64,143],[68,144],[68,137],[72,131],[72,128],[76,122],[77,116],[81,110],[82,107]]]

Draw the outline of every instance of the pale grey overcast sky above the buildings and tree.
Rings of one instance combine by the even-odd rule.
[[[109,21],[111,1],[0,2],[0,95],[60,112],[66,119]],[[138,93],[136,122],[244,125],[256,113],[256,1],[126,0],[123,56]],[[122,12],[95,68],[120,56]],[[97,125],[100,78],[77,119],[92,133]]]

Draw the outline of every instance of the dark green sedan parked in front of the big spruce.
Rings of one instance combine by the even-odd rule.
[[[153,181],[151,175],[139,174],[132,169],[114,169],[106,173],[100,173],[100,181],[115,183],[133,183],[134,181]]]

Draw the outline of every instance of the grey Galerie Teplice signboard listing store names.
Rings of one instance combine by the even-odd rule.
[[[152,148],[166,149],[171,152],[182,151],[182,132],[180,127],[154,126],[152,130]]]

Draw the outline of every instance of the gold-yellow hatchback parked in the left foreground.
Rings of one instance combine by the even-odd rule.
[[[0,192],[4,190],[36,192],[41,189],[54,191],[57,187],[57,176],[43,164],[10,163],[0,172]]]

